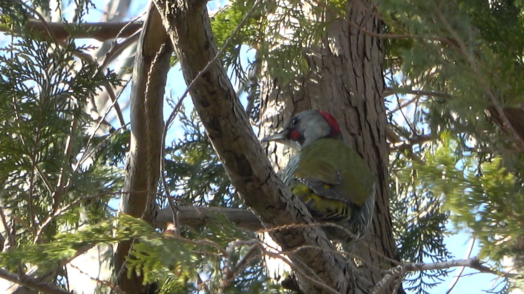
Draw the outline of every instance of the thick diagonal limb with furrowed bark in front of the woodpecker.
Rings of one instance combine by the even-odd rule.
[[[218,51],[205,1],[154,2],[189,85]],[[261,221],[268,227],[312,223],[303,203],[291,195],[272,170],[220,60],[195,81],[190,94],[213,148],[238,194]],[[283,250],[302,245],[318,247],[302,248],[290,258],[309,277],[316,275],[323,284],[341,293],[350,291],[347,261],[333,253],[334,247],[322,230],[316,227],[280,229],[272,237]],[[319,288],[318,284],[308,284],[303,276],[299,276],[299,281],[304,293],[330,292]]]

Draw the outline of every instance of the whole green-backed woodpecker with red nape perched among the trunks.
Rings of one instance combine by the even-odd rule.
[[[321,110],[302,111],[282,131],[261,142],[275,141],[298,152],[282,174],[293,195],[305,203],[332,241],[350,245],[361,238],[373,219],[375,175],[348,147],[336,120]]]

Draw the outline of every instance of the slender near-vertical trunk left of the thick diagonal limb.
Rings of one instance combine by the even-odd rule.
[[[154,70],[150,73],[151,63],[162,44],[165,49],[158,56]],[[133,68],[133,85],[131,89],[131,143],[126,163],[126,178],[124,191],[132,193],[123,194],[119,211],[130,216],[140,218],[149,223],[155,219],[155,197],[147,201],[146,193],[133,191],[156,192],[160,171],[160,145],[163,129],[163,95],[166,86],[169,58],[171,56],[171,43],[162,26],[160,16],[154,5],[148,10],[144,28],[140,35],[137,47],[135,66]],[[146,115],[144,101],[146,99],[146,84],[149,77]],[[148,172],[149,171],[149,172]],[[150,187],[148,187],[148,176]],[[129,252],[132,241],[121,242],[115,251],[115,273],[119,273],[125,266],[125,257]],[[126,293],[145,293],[148,287],[142,285],[141,277],[134,273],[127,278],[127,269],[124,268],[117,280],[117,285]]]

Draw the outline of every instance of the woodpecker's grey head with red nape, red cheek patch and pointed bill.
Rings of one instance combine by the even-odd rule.
[[[293,116],[282,131],[260,142],[275,141],[300,151],[316,140],[324,138],[341,138],[339,124],[328,112],[307,110]]]

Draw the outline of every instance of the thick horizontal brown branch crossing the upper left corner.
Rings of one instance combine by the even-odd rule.
[[[62,22],[48,22],[49,30],[53,33],[54,37],[57,40],[65,40],[69,37],[69,32],[65,29],[66,25]],[[127,27],[126,27],[127,25]],[[81,24],[81,28],[84,29],[84,32],[75,35],[77,39],[96,39],[99,41],[105,41],[109,39],[114,39],[118,32],[124,28],[120,37],[127,38],[137,30],[139,30],[143,25],[143,21],[134,21],[130,23],[129,21],[123,22],[86,22]],[[29,20],[26,24],[26,29],[36,30],[41,32],[46,32],[46,26],[40,20]],[[0,32],[9,32],[6,27],[0,26]],[[18,33],[15,31],[15,33]]]

